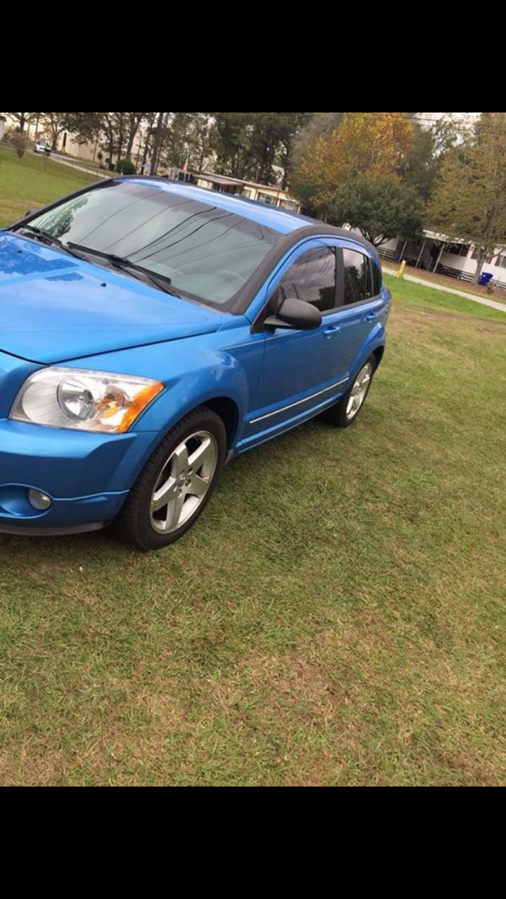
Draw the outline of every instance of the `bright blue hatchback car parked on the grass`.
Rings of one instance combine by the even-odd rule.
[[[167,546],[233,456],[355,421],[389,306],[366,240],[226,193],[118,177],[32,210],[0,231],[0,531]]]

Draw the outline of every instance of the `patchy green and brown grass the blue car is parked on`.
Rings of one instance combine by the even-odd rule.
[[[1,784],[506,782],[506,316],[388,283],[357,423],[174,547],[0,536]]]

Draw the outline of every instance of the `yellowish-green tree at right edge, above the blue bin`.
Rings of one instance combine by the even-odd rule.
[[[447,153],[428,219],[449,237],[476,246],[477,283],[488,256],[506,238],[506,117],[486,113],[473,136]]]

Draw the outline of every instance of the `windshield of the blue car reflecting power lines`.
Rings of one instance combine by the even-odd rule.
[[[178,292],[222,305],[281,237],[249,218],[164,188],[133,182],[83,193],[30,224],[64,244],[114,254],[169,280]],[[101,263],[98,257],[93,259]]]

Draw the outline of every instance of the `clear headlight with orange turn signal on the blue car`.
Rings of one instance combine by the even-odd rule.
[[[50,428],[122,434],[164,385],[86,369],[41,369],[16,396],[10,418]]]

